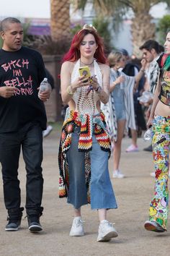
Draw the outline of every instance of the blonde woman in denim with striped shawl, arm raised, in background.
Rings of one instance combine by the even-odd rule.
[[[138,82],[143,76],[146,61],[142,60],[142,68],[135,77],[129,77],[120,68],[125,67],[125,57],[122,52],[112,52],[108,56],[110,67],[110,97],[109,103],[102,105],[106,116],[109,134],[114,143],[113,150],[113,178],[123,178],[120,171],[120,155],[122,137],[126,128],[135,129],[135,114],[133,103],[133,90],[138,89]]]

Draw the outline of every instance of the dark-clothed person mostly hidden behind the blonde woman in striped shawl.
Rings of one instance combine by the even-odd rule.
[[[128,51],[126,51],[123,48],[120,49],[120,51],[122,52],[123,56],[126,59],[126,64],[124,69],[122,69],[122,72],[127,74],[130,77],[135,77],[135,75],[138,74],[138,71],[139,71],[138,65],[134,64],[134,60],[132,61],[130,59]],[[132,137],[132,144],[125,150],[127,153],[138,152],[138,145],[137,145],[138,132],[146,130],[146,120],[144,119],[143,109],[141,104],[138,101],[138,97],[143,91],[144,83],[145,83],[145,77],[143,74],[140,81],[138,82],[138,85],[136,84],[136,87],[138,87],[138,89],[133,90],[136,129],[129,129],[130,137]]]

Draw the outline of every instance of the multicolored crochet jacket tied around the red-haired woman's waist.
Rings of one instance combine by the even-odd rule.
[[[76,111],[67,111],[61,132],[61,142],[58,153],[58,165],[60,171],[59,197],[68,196],[69,166],[66,153],[71,146],[71,135],[76,127],[80,128],[79,151],[85,153],[87,199],[88,202],[90,202],[91,167],[89,151],[92,149],[92,135],[94,133],[101,149],[108,151],[109,155],[111,142],[106,129],[104,114],[102,112],[99,115],[91,116],[90,114],[79,114]]]

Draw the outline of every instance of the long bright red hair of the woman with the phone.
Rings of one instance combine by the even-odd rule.
[[[94,35],[94,38],[96,40],[97,43],[97,51],[94,54],[94,58],[97,59],[98,62],[100,63],[106,63],[106,57],[104,55],[104,44],[103,44],[103,40],[102,38],[98,35],[98,33],[94,30],[94,29],[82,29],[79,30],[78,33],[76,33],[76,35],[74,35],[73,40],[71,41],[71,47],[68,50],[68,52],[63,56],[63,62],[64,61],[77,61],[78,59],[80,59],[80,44],[81,41],[84,39],[85,35]]]

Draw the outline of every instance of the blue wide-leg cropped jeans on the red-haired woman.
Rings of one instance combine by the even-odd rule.
[[[86,205],[85,153],[79,152],[79,133],[72,135],[71,147],[67,153],[69,166],[68,202],[79,209]],[[108,152],[101,150],[93,135],[91,158],[91,209],[117,208],[115,194],[109,178]]]

